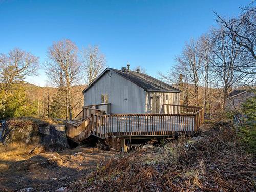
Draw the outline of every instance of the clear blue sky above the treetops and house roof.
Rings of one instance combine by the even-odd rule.
[[[0,53],[14,47],[43,63],[53,41],[68,38],[79,48],[98,45],[107,64],[143,66],[158,77],[167,71],[185,41],[216,26],[213,11],[229,18],[250,1],[3,1],[0,0]],[[40,76],[27,81],[44,86]]]

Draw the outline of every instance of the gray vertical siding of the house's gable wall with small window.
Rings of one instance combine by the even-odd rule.
[[[106,72],[84,92],[84,105],[101,104],[101,94],[109,94],[111,113],[145,113],[146,92],[131,81]]]

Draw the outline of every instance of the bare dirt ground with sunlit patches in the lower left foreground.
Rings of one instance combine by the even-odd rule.
[[[0,147],[1,150],[1,147]],[[85,177],[116,155],[97,148],[29,154],[31,146],[13,146],[0,151],[0,191],[55,191]]]

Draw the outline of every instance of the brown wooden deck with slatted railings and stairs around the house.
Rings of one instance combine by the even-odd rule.
[[[104,109],[100,109],[104,108]],[[66,134],[76,142],[90,135],[105,139],[115,136],[163,136],[177,132],[191,134],[203,122],[203,108],[163,105],[161,114],[107,114],[111,104],[84,106],[80,124],[67,123]]]

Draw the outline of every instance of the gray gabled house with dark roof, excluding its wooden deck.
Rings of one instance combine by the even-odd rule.
[[[111,103],[115,114],[160,113],[163,104],[179,104],[180,92],[140,70],[125,67],[106,68],[83,90],[85,106]]]

